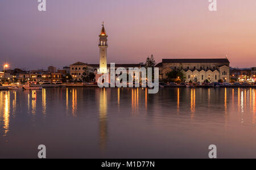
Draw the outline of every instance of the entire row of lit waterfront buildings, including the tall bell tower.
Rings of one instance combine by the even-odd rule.
[[[62,70],[57,70],[56,67],[49,66],[47,71],[22,71],[19,69],[7,70],[5,78],[11,82],[83,82],[88,80],[97,80],[102,74],[109,73],[110,65],[107,63],[107,49],[108,49],[108,35],[105,31],[104,24],[102,24],[100,32],[100,40],[98,47],[100,49],[100,62],[98,64],[88,64],[83,62],[76,62],[70,66],[63,67]],[[143,67],[143,63],[139,64],[116,64],[118,67],[129,67],[139,69]],[[168,73],[174,70],[180,70],[184,74],[185,82],[200,82],[205,80],[208,82],[230,82],[230,80],[237,81],[251,81],[255,82],[255,68],[252,69],[232,69],[230,68],[229,59],[226,58],[203,58],[203,59],[162,59],[158,63],[159,79],[167,79]],[[3,73],[0,73],[0,79],[3,79]]]

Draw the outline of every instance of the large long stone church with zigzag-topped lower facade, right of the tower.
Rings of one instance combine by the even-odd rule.
[[[173,70],[182,70],[185,75],[185,82],[203,83],[206,79],[209,82],[224,82],[230,80],[229,60],[227,58],[204,58],[204,59],[162,59],[158,63],[159,79],[167,79],[167,74]]]

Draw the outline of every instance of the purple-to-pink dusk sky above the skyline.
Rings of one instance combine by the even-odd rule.
[[[224,58],[232,67],[256,66],[256,1],[217,0],[0,1],[0,65],[62,68],[98,63],[104,20],[108,63],[163,58]]]

